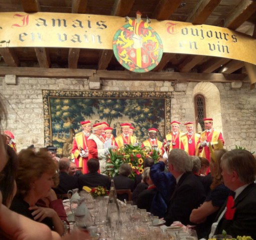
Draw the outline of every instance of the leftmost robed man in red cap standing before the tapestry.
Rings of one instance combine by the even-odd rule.
[[[88,173],[87,161],[88,161],[88,137],[91,134],[92,126],[91,121],[81,121],[83,131],[78,132],[73,141],[72,153],[75,157],[75,163],[78,167],[82,167],[82,172]]]

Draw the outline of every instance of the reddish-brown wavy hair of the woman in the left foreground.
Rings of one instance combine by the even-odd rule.
[[[44,173],[54,174],[57,170],[53,158],[45,150],[35,152],[32,149],[21,150],[18,154],[17,189],[23,196],[30,190],[31,182]]]

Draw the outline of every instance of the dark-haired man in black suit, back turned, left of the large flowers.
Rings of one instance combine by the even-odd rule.
[[[89,173],[83,174],[78,177],[79,189],[82,190],[83,186],[89,186],[89,187],[103,186],[109,190],[110,188],[109,177],[103,174],[100,174],[98,172],[100,168],[99,160],[95,158],[90,158],[87,161],[87,167],[88,167]]]

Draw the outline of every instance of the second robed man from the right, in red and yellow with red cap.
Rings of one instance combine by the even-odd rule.
[[[197,142],[200,134],[194,132],[193,122],[186,122],[184,125],[186,126],[187,132],[180,137],[180,148],[184,149],[190,156],[195,156],[198,154]]]

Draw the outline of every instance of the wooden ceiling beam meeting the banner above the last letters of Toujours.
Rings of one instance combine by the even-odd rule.
[[[242,0],[224,20],[224,26],[236,29],[256,11],[255,0]]]

